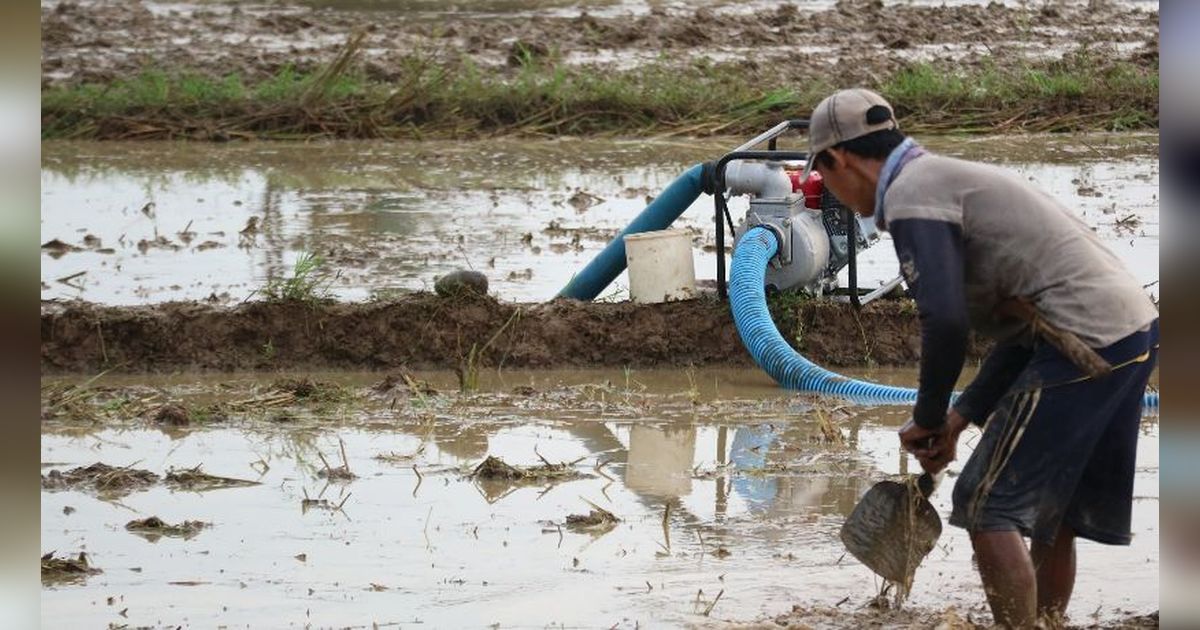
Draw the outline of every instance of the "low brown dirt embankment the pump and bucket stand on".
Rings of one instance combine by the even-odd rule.
[[[913,365],[919,356],[917,317],[907,302],[872,302],[857,317],[848,305],[823,301],[787,311],[775,313],[784,337],[799,337],[818,364]],[[236,307],[43,302],[41,319],[43,373],[751,364],[727,306],[714,299],[653,306],[432,294]],[[971,355],[984,350],[976,341]]]

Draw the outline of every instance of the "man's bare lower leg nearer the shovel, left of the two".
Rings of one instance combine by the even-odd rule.
[[[991,616],[1007,628],[1037,623],[1037,581],[1030,551],[1018,532],[972,532]]]

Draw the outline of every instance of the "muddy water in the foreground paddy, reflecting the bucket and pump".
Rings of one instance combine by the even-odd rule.
[[[318,377],[347,385],[378,378]],[[107,384],[238,398],[260,378]],[[533,392],[512,394],[515,385]],[[506,373],[474,395],[385,397],[295,412],[289,422],[247,416],[161,431],[136,419],[49,421],[43,470],[102,461],[161,474],[203,463],[260,485],[154,487],[113,500],[43,492],[43,551],[86,550],[104,572],[44,588],[42,616],[56,626],[653,628],[754,620],[793,604],[857,610],[878,584],[842,553],[836,532],[872,481],[913,466],[894,434],[905,413],[829,409],[781,394],[757,371],[596,371]],[[820,414],[845,445],[822,442]],[[326,484],[318,451],[340,462],[340,440],[358,479]],[[1158,425],[1147,421],[1134,542],[1080,546],[1076,622],[1157,610],[1157,452]],[[574,462],[589,476],[516,486],[466,476],[486,455],[520,466],[539,456]],[[304,511],[306,497],[342,510]],[[607,532],[565,527],[568,515],[588,512],[587,502],[620,523]],[[942,488],[935,503],[943,518],[948,502]],[[124,529],[151,515],[212,527],[155,542]],[[982,602],[970,544],[947,528],[917,574],[911,605],[978,616]]]

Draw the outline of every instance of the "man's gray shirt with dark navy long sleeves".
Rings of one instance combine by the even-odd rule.
[[[1141,286],[1091,228],[1004,169],[920,155],[895,175],[883,206],[883,228],[892,234],[920,316],[920,385],[913,409],[920,426],[943,422],[970,329],[1000,343],[955,403],[968,420],[983,424],[1028,360],[1028,348],[1018,342],[1025,324],[994,314],[1004,299],[1032,300],[1046,322],[1093,348],[1158,317]]]

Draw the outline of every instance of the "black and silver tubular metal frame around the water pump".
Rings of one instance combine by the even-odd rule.
[[[779,125],[767,130],[766,132],[758,134],[750,142],[738,146],[733,151],[725,154],[720,160],[715,162],[714,176],[713,176],[713,204],[714,212],[713,220],[716,223],[716,294],[721,300],[728,299],[728,283],[725,280],[725,224],[728,222],[730,234],[732,235],[733,218],[730,216],[730,208],[725,199],[725,167],[733,160],[809,160],[808,151],[780,151],[776,149],[779,137],[791,130],[806,130],[809,128],[808,119],[793,119],[785,120]],[[767,143],[766,151],[754,151],[755,146]],[[724,218],[724,221],[722,221]],[[844,218],[846,221],[846,244],[847,253],[850,256],[847,265],[847,275],[850,281],[850,287],[847,288],[850,294],[850,304],[854,305],[854,308],[862,308],[863,302],[858,296],[858,265],[857,265],[857,248],[858,248],[858,221],[854,216],[854,211],[846,208]]]

